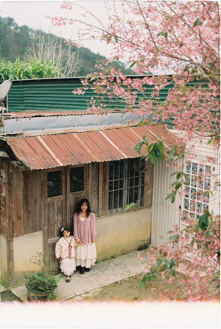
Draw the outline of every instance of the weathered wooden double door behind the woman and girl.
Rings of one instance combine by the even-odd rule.
[[[83,175],[82,189],[80,191],[72,192],[71,179],[73,176],[73,170]],[[79,169],[81,168],[81,169]],[[71,178],[70,178],[70,175]],[[44,170],[44,205],[45,205],[45,255],[49,257],[50,269],[53,271],[54,264],[58,261],[55,258],[55,244],[60,238],[60,229],[63,226],[70,227],[73,234],[73,216],[77,202],[82,198],[88,197],[88,193],[85,192],[84,186],[88,191],[88,166],[82,167],[57,167],[53,169]],[[87,195],[86,195],[87,194]],[[59,266],[58,268],[59,269]]]

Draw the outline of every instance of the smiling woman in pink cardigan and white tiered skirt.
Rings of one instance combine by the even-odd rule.
[[[81,266],[80,274],[89,272],[96,262],[96,235],[95,214],[90,209],[88,199],[82,199],[74,214],[74,239],[76,243],[81,243],[75,247],[76,266]]]

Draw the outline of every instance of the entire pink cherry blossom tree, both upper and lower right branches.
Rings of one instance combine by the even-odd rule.
[[[82,79],[82,88],[73,91],[77,94],[85,93],[88,88],[94,90],[88,110],[108,110],[108,98],[110,103],[123,104],[125,110],[133,110],[135,115],[152,114],[162,126],[185,132],[185,142],[197,136],[218,149],[218,3],[131,0],[122,1],[119,6],[119,2],[109,1],[105,3],[108,22],[102,22],[81,3],[62,4],[69,13],[76,6],[82,11],[81,17],[52,17],[52,23],[58,26],[80,23],[82,28],[78,31],[78,39],[73,40],[75,45],[85,39],[111,44],[112,54],[108,61],[126,59],[135,72],[133,77],[126,76],[121,70],[107,69],[107,63],[100,63],[101,72],[89,74]],[[93,23],[89,17],[94,19]],[[162,98],[164,93],[166,97]],[[149,121],[144,120],[141,124],[148,130]],[[179,134],[176,136],[179,145]],[[150,159],[153,164],[163,156],[174,161],[183,155],[182,148],[177,145],[166,149],[164,136],[161,139],[159,143],[148,144],[144,136],[135,148],[139,152],[141,146],[146,145],[146,160]],[[171,202],[178,191],[182,193],[183,185],[185,174],[178,168],[176,181],[167,196]],[[154,253],[148,253],[152,264],[144,268],[140,286],[149,286],[154,293],[170,299],[217,297],[219,276],[215,272],[219,262],[219,221],[205,210],[197,223],[189,220],[187,225],[181,232],[176,227],[171,232],[170,248],[168,245],[162,247],[157,254],[153,248]],[[192,257],[190,262],[186,262],[188,252]],[[201,277],[202,265],[205,275]],[[177,267],[182,267],[185,278],[176,276],[176,282],[185,284],[186,292],[177,289],[157,292],[154,285],[149,284],[156,273],[173,282]],[[208,286],[213,286],[214,292],[211,293]]]

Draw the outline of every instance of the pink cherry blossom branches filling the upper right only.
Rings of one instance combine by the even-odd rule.
[[[84,39],[111,44],[109,61],[126,58],[135,74],[145,75],[131,78],[120,70],[108,72],[103,63],[101,73],[93,72],[84,79],[84,89],[92,88],[95,93],[108,95],[112,101],[121,100],[127,110],[136,108],[139,114],[150,113],[166,127],[171,122],[174,129],[185,130],[189,140],[195,133],[218,144],[217,2],[122,1],[120,15],[119,6],[115,7],[111,1],[105,3],[108,23],[103,23],[80,3],[62,4],[62,8],[70,12],[76,6],[81,8],[82,18],[53,17],[53,24],[75,26],[80,23],[83,28],[78,31],[77,44]],[[94,24],[88,23],[89,16],[94,18]],[[146,92],[146,85],[153,86],[152,92]],[[168,85],[168,95],[162,102],[160,90]],[[95,98],[90,108],[107,109]]]

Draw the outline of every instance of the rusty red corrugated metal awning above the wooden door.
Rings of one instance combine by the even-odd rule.
[[[15,156],[29,169],[54,168],[66,165],[87,164],[146,155],[145,146],[140,154],[131,148],[143,136],[149,143],[164,137],[167,147],[174,144],[173,135],[159,125],[123,127],[46,136],[6,138]]]

